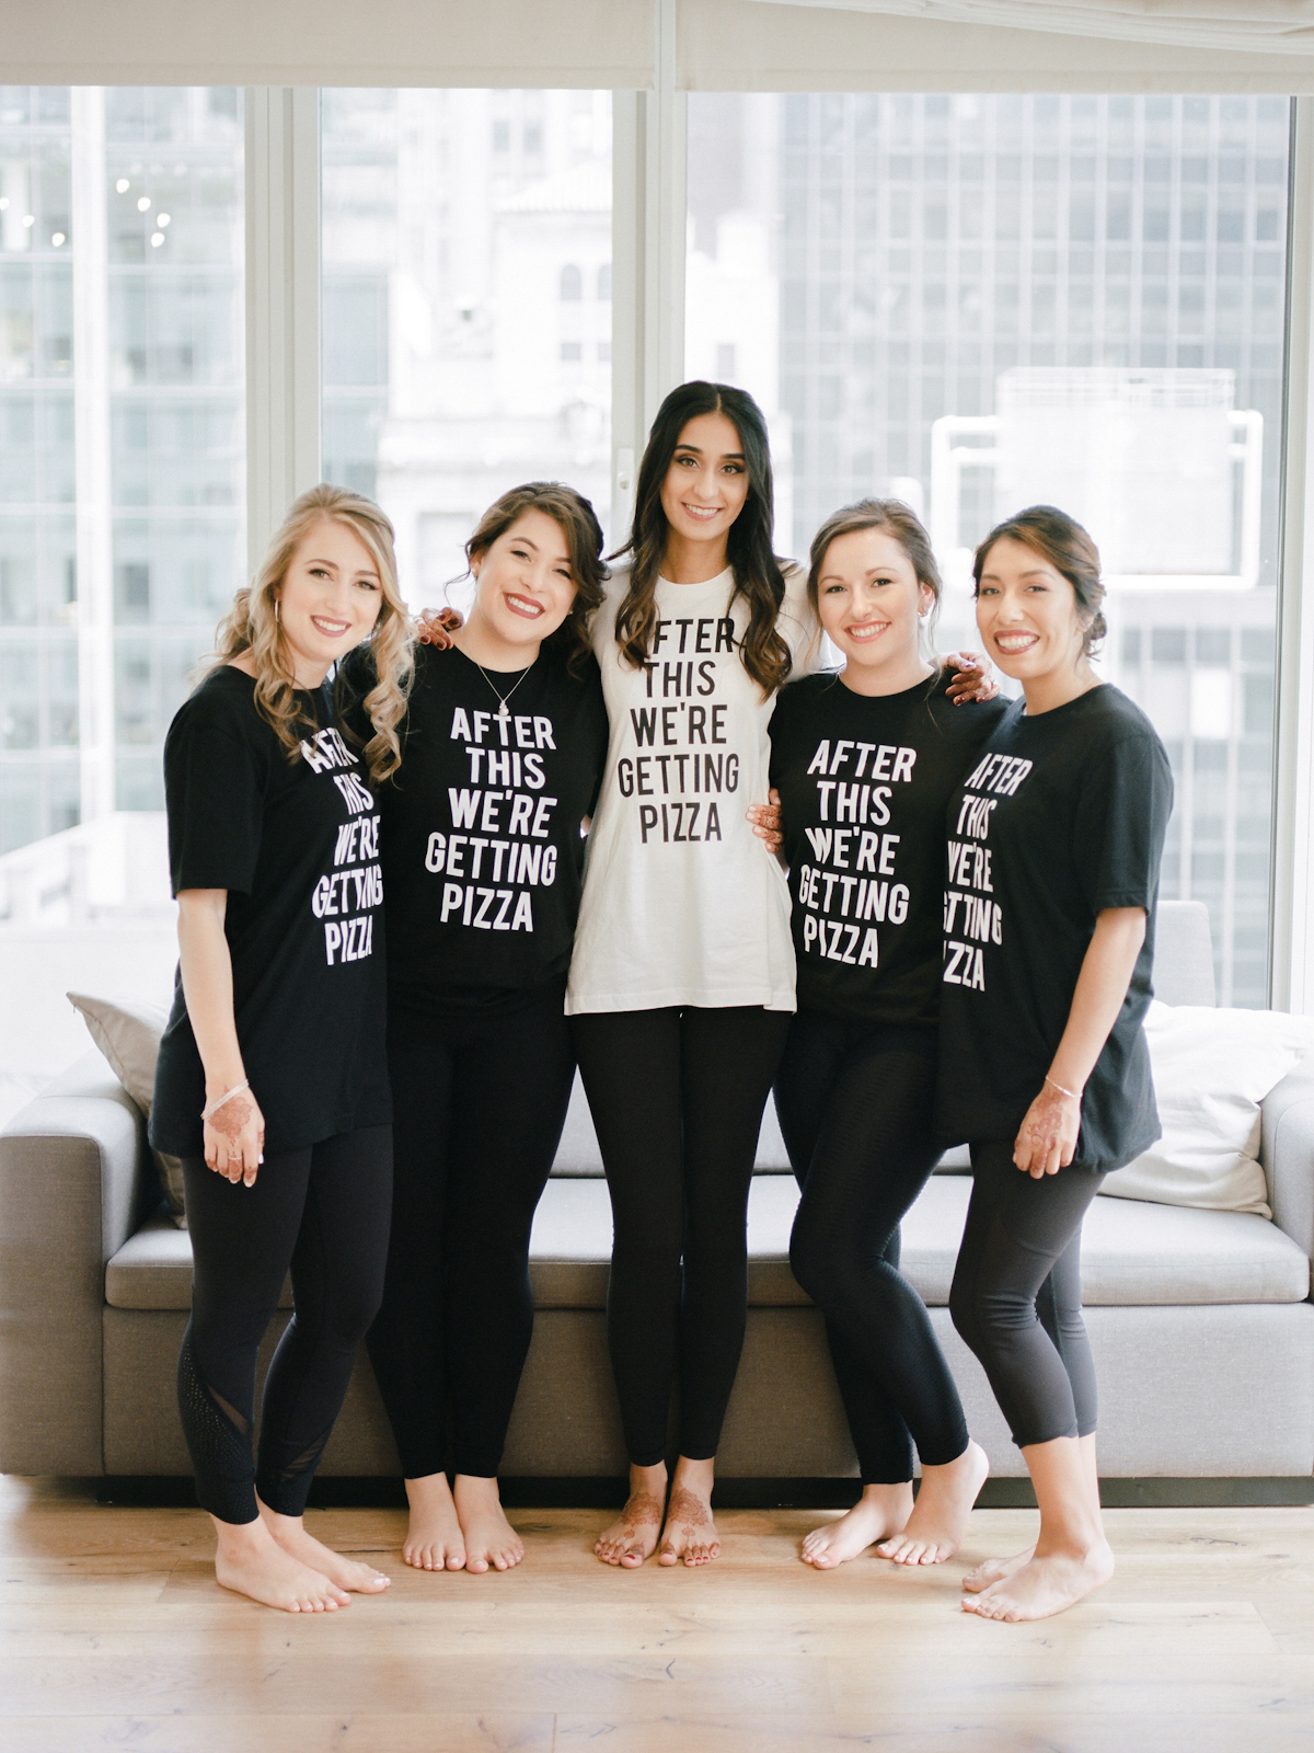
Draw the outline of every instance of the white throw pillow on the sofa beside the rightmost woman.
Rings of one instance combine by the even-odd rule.
[[[1270,1218],[1260,1103],[1314,1052],[1314,1018],[1155,1001],[1146,1040],[1163,1136],[1100,1192]]]

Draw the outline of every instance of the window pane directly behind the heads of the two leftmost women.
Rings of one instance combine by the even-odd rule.
[[[324,93],[324,477],[413,605],[480,512],[564,479],[606,528],[611,93]]]

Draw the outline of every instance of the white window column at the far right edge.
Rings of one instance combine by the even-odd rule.
[[[1314,98],[1296,98],[1277,622],[1272,1003],[1314,1013]]]

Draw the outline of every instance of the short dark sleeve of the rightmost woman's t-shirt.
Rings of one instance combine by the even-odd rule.
[[[1100,750],[1081,787],[1076,868],[1091,913],[1149,906],[1172,813],[1172,770],[1153,731]]]

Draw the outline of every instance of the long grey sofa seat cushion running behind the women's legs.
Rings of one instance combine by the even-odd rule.
[[[927,1302],[950,1299],[972,1183],[937,1175],[904,1218],[904,1271]],[[748,1301],[753,1308],[806,1302],[788,1267],[797,1190],[792,1176],[757,1175],[748,1197]],[[538,1308],[604,1308],[611,1252],[606,1183],[590,1176],[548,1182],[534,1218],[531,1274]],[[1081,1255],[1091,1306],[1302,1302],[1309,1260],[1261,1217],[1097,1199]],[[105,1269],[105,1301],[126,1309],[186,1309],[191,1241],[152,1218]],[[291,1308],[284,1285],[282,1308]]]

